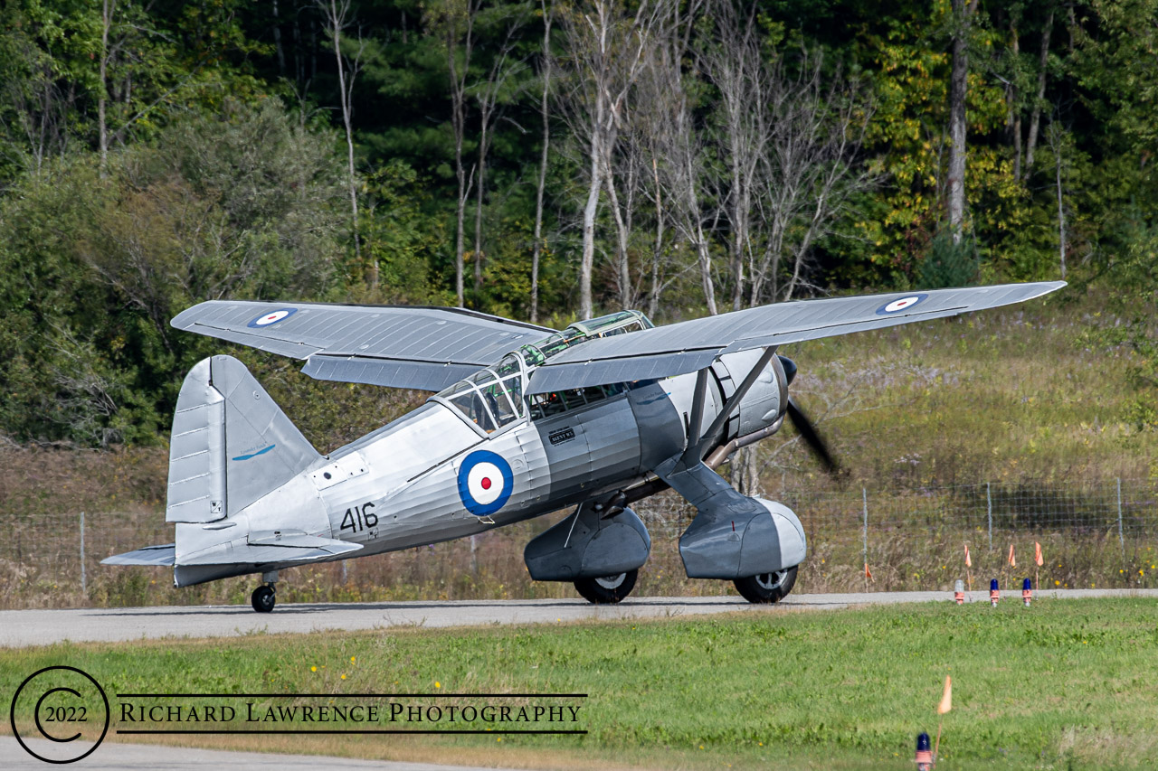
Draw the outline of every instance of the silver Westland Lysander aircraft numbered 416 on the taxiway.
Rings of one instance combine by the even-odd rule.
[[[655,328],[635,310],[562,332],[455,308],[203,302],[177,329],[305,359],[320,380],[437,391],[409,414],[320,455],[245,367],[205,359],[177,397],[166,521],[175,543],[104,560],[173,565],[176,586],[278,572],[474,535],[574,506],[533,538],[537,581],[618,602],[651,552],[629,505],[672,487],[695,508],[690,578],[777,602],[805,558],[783,504],[714,469],[785,416],[831,460],[789,397],[776,347],[1023,302],[1064,282],[783,302]]]

